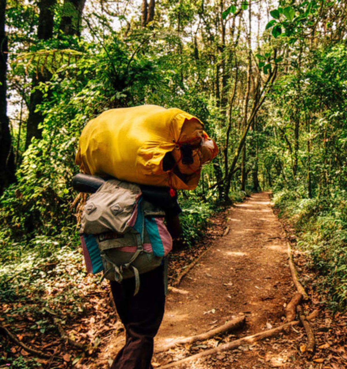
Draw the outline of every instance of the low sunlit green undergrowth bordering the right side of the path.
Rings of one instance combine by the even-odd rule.
[[[347,309],[347,194],[308,199],[298,191],[274,194],[280,217],[291,223],[297,245],[308,253],[310,268],[318,272],[312,284],[333,310]]]

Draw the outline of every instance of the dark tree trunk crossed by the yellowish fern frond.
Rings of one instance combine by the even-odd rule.
[[[54,9],[55,0],[41,0],[39,2],[39,24],[37,36],[39,39],[48,40],[52,38],[53,25],[54,25]],[[47,82],[51,75],[47,71],[37,70],[37,74],[32,77],[32,88],[34,89],[39,85],[40,82]],[[29,102],[29,116],[27,121],[27,136],[25,138],[25,149],[30,145],[33,137],[41,138],[42,132],[38,128],[39,124],[43,121],[44,117],[40,111],[35,112],[36,106],[42,103],[43,94],[41,91],[35,89],[30,95]]]

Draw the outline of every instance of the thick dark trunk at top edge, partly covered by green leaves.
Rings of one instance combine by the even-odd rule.
[[[81,35],[81,19],[86,0],[64,0],[59,30],[66,36]]]

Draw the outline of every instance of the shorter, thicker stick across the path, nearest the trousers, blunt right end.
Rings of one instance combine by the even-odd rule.
[[[178,339],[177,341],[174,341],[174,342],[170,342],[166,346],[163,346],[162,348],[157,349],[156,352],[167,351],[170,348],[175,347],[176,345],[191,344],[196,341],[206,341],[207,339],[210,339],[219,333],[225,333],[225,332],[237,330],[243,327],[245,321],[246,321],[246,317],[235,318],[233,320],[230,320],[228,323],[221,325],[220,327],[212,329],[211,331],[197,334],[195,336]]]

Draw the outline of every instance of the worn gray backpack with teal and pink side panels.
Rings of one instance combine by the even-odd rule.
[[[155,269],[172,248],[164,211],[145,201],[137,184],[105,182],[84,206],[81,244],[87,271],[121,282]]]

